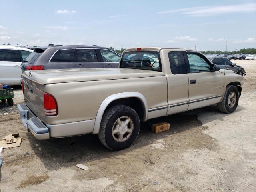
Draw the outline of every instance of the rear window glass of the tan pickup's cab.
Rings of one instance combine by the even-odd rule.
[[[160,56],[154,51],[135,51],[123,54],[120,68],[162,71]]]

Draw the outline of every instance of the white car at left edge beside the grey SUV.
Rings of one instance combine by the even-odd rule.
[[[0,83],[20,85],[20,64],[31,52],[33,50],[23,47],[0,46]]]

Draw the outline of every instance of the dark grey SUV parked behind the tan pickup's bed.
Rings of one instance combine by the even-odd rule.
[[[121,54],[99,46],[54,45],[32,64],[31,70],[67,68],[117,68]],[[29,70],[29,69],[27,69]]]

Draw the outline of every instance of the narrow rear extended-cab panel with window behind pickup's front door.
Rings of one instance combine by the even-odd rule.
[[[168,84],[167,114],[170,115],[188,109],[188,74],[182,50],[164,51],[164,55],[168,57],[165,58],[165,62],[168,67],[166,70]]]

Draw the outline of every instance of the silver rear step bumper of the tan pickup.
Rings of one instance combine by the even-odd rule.
[[[26,104],[18,104],[17,108],[20,113],[21,122],[26,130],[31,131],[37,139],[50,138],[49,129],[30,111]]]

